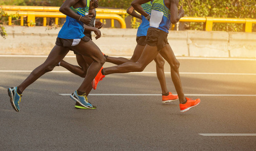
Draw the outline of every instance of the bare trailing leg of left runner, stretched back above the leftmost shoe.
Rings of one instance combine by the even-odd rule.
[[[44,73],[52,71],[57,63],[59,63],[69,52],[69,48],[55,46],[47,59],[43,62],[43,64],[39,65],[35,68],[25,79],[25,81],[18,86],[19,90],[23,92],[29,85],[35,82],[38,78],[40,78]]]

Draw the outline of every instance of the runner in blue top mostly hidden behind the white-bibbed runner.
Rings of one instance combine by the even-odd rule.
[[[151,2],[142,4],[141,7],[146,13],[148,14],[151,13]],[[146,32],[147,32],[147,29],[149,28],[148,20],[146,20],[143,15],[137,14],[134,11],[134,8],[132,6],[127,9],[127,13],[133,17],[141,19],[142,22],[137,30],[137,35],[136,35],[137,45],[134,49],[131,59],[127,59],[124,57],[111,57],[111,56],[107,57],[107,60],[106,60],[107,62],[111,62],[117,65],[123,64],[125,62],[136,62],[141,56],[141,53],[143,52],[144,47],[146,46]],[[179,99],[178,95],[173,95],[171,92],[168,91],[166,86],[165,72],[164,72],[165,60],[160,54],[158,54],[154,60],[157,64],[157,77],[162,89],[162,102],[166,103],[166,102],[178,100]]]

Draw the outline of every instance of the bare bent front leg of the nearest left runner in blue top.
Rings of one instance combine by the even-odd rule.
[[[86,90],[90,89],[92,80],[95,78],[101,66],[105,63],[106,58],[101,53],[97,45],[95,45],[91,40],[88,42],[81,40],[81,42],[78,45],[73,46],[73,48],[81,55],[88,56],[93,60],[87,69],[84,81],[78,88],[78,91],[86,92]]]

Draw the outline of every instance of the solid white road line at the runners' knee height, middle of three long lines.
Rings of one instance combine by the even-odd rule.
[[[32,72],[32,70],[0,70],[0,72]],[[70,71],[50,71],[51,73],[71,73]],[[126,74],[156,74],[157,72],[130,72]],[[72,73],[73,74],[73,73]],[[171,74],[171,72],[165,72],[165,74]],[[180,74],[210,74],[210,75],[256,75],[256,73],[217,73],[217,72],[180,72]]]

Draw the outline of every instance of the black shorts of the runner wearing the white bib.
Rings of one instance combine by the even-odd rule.
[[[160,51],[162,48],[166,46],[168,43],[167,40],[168,33],[158,29],[150,27],[147,30],[146,34],[146,43],[149,46],[157,46],[158,51]]]

